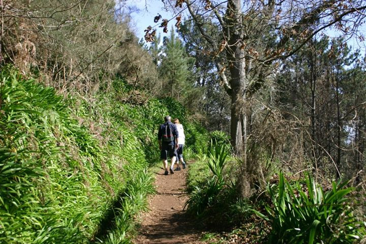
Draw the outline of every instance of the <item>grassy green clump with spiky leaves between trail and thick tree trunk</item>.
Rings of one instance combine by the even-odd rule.
[[[216,138],[217,134],[211,133],[211,137]],[[236,192],[234,174],[238,162],[229,156],[226,147],[227,144],[211,140],[207,155],[200,156],[190,167],[187,187],[190,198],[186,206],[190,214],[211,225],[222,226],[226,222],[230,227],[247,219],[251,212],[247,201]]]

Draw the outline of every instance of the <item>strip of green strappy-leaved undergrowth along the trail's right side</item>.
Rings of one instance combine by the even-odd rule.
[[[234,178],[229,177],[235,168],[224,170],[228,164],[225,145],[211,143],[209,148],[190,168],[188,212],[211,225],[220,223],[220,231],[226,222],[231,231],[205,238],[215,243],[225,239],[224,243],[311,244],[355,243],[365,236],[366,222],[357,217],[359,202],[352,195],[354,189],[347,187],[349,182],[333,182],[324,189],[310,173],[306,180],[289,182],[281,172],[265,192],[241,199]]]

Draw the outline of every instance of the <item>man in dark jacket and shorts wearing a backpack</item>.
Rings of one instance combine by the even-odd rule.
[[[160,158],[164,163],[164,175],[168,175],[168,156],[171,159],[170,173],[174,174],[173,166],[177,157],[176,149],[178,148],[178,130],[171,123],[169,115],[164,117],[165,123],[160,125],[158,132],[158,142],[160,149]]]

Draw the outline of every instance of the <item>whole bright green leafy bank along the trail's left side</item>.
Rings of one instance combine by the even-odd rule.
[[[187,121],[184,108],[172,99],[132,105],[120,79],[118,89],[89,99],[65,99],[11,68],[1,82],[0,241],[127,239],[132,217],[154,192],[147,167],[159,156],[158,125],[170,111]],[[187,125],[189,150],[201,151],[202,129]]]

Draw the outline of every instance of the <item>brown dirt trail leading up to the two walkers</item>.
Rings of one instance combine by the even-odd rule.
[[[184,194],[187,170],[164,175],[161,169],[156,174],[157,194],[148,199],[150,211],[141,216],[139,235],[133,243],[204,243],[199,241],[200,228],[183,210],[188,199]]]

